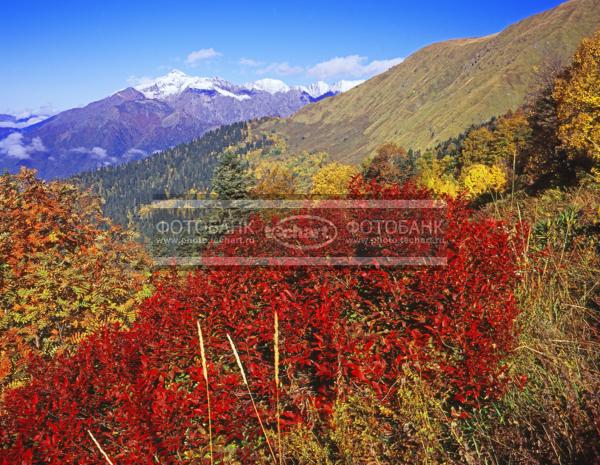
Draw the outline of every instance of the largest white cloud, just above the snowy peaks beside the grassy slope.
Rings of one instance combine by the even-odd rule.
[[[403,58],[391,58],[368,62],[367,57],[348,55],[318,63],[309,68],[307,74],[318,79],[371,77],[387,71],[392,66],[402,63],[403,60]]]

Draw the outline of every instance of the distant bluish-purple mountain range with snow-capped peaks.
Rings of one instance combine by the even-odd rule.
[[[290,116],[360,83],[290,87],[261,79],[235,85],[174,70],[49,118],[0,115],[0,172],[27,166],[41,177],[57,178],[138,160],[223,125]]]

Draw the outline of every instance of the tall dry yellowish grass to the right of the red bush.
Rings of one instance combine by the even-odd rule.
[[[466,425],[480,463],[600,461],[598,205],[598,186],[519,204],[518,215],[535,227],[517,289],[520,338],[510,362],[528,381]],[[507,202],[497,207],[502,217],[514,213]],[[536,253],[540,241],[543,253]]]

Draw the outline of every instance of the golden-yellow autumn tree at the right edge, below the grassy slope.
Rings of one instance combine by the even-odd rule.
[[[600,30],[581,42],[553,97],[563,146],[600,162]]]

